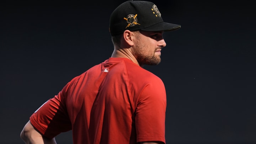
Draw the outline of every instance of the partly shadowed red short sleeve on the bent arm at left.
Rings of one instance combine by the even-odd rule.
[[[47,138],[54,138],[62,132],[71,130],[71,122],[66,110],[66,85],[62,91],[45,102],[30,117],[31,124]]]

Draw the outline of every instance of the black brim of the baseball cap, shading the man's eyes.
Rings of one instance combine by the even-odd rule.
[[[143,31],[165,31],[165,32],[169,32],[169,31],[178,30],[180,28],[181,28],[181,25],[176,25],[176,24],[167,23],[167,22],[160,22],[160,23],[157,23],[153,26],[142,28],[141,30],[143,30]]]

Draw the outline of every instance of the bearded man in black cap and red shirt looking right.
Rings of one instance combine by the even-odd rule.
[[[72,79],[30,117],[25,143],[55,144],[72,130],[74,144],[165,144],[166,92],[160,78],[143,65],[160,63],[165,31],[155,4],[126,1],[110,16],[111,58]]]

